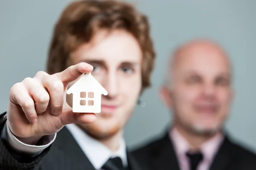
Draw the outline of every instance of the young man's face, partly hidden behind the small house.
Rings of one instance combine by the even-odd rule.
[[[137,40],[122,30],[110,34],[99,31],[92,42],[81,45],[70,57],[72,64],[93,65],[91,74],[108,91],[107,96],[102,95],[101,113],[96,113],[96,122],[80,125],[91,136],[108,138],[125,126],[142,88],[141,60]],[[72,106],[72,96],[67,96],[67,102]]]

